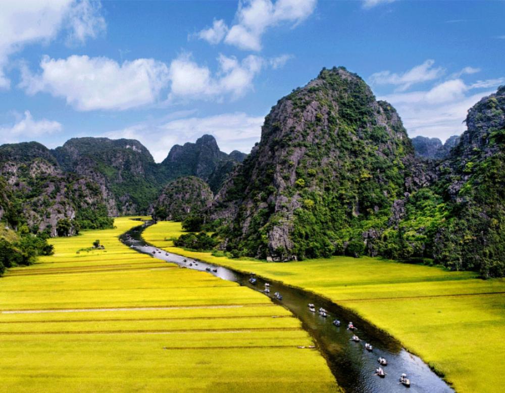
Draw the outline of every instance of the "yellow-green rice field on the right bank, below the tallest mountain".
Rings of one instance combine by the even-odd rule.
[[[146,241],[172,253],[302,287],[347,307],[421,356],[458,392],[501,392],[505,280],[377,258],[266,263],[173,247],[180,223],[159,222]]]

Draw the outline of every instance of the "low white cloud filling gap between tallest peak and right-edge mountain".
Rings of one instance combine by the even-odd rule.
[[[461,134],[466,125],[467,111],[483,96],[494,90],[472,92],[476,89],[497,87],[504,79],[465,84],[461,79],[439,83],[427,91],[394,93],[381,97],[391,103],[400,115],[410,137],[417,135],[441,140]]]

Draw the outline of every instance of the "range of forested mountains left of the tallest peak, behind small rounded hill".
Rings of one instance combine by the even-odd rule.
[[[198,176],[218,190],[245,156],[221,152],[211,135],[174,146],[161,164],[133,139],[72,138],[54,150],[38,142],[5,144],[0,146],[5,183],[0,219],[21,214],[16,206],[23,205],[21,215],[33,231],[56,235],[62,219],[76,223],[85,216],[81,223],[86,226],[96,215],[146,214],[171,180]],[[7,194],[16,195],[18,203]]]

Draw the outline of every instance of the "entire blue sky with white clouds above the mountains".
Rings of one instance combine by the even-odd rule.
[[[505,84],[505,2],[6,0],[0,143],[139,139],[157,161],[214,134],[248,152],[277,100],[345,66],[410,136],[461,133]]]

